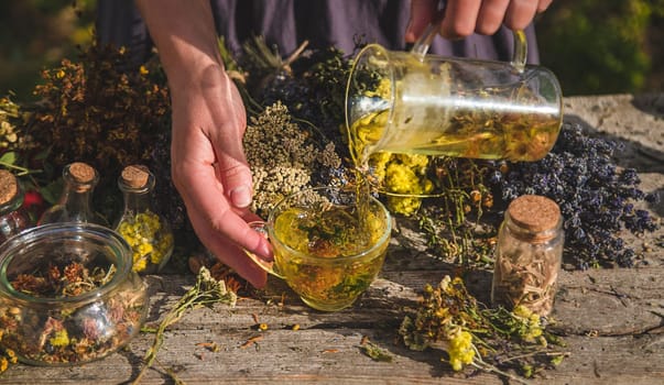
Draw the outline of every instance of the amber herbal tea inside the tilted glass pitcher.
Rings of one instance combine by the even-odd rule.
[[[383,135],[394,136],[384,139],[388,144],[380,151],[385,152],[532,162],[548,153],[559,129],[555,117],[511,113],[479,118],[478,111],[460,110],[445,128],[439,121],[429,122],[431,129],[417,130],[407,123],[392,123],[385,134],[389,113],[389,110],[372,112],[351,125],[351,153],[359,169],[368,168],[369,158]],[[477,125],[477,121],[483,123]]]

